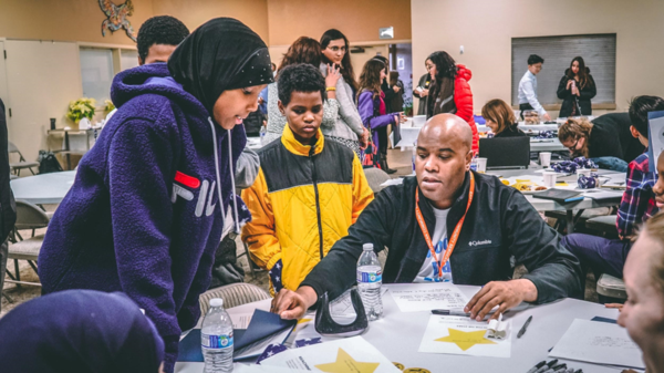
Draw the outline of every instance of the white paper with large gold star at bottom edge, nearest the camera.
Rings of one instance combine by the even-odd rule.
[[[362,336],[290,349],[261,361],[260,364],[311,372],[401,372],[385,355]]]

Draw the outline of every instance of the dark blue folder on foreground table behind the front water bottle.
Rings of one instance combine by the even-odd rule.
[[[297,320],[282,320],[278,314],[262,310],[253,311],[251,321],[247,329],[234,330],[234,351],[261,341],[272,334],[293,328]],[[200,329],[193,329],[187,336],[179,342],[179,353],[177,361],[203,362],[203,351],[200,350]]]

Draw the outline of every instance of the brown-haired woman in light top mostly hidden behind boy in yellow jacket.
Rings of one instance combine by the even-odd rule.
[[[322,61],[321,53],[321,44],[317,40],[302,37],[295,40],[283,55],[283,60],[281,60],[281,64],[277,71],[277,81],[268,85],[268,133],[266,134],[266,145],[277,138],[281,138],[283,127],[286,126],[286,116],[279,111],[279,72],[287,66],[298,63],[307,63],[319,68]],[[339,69],[334,69],[331,65],[325,65],[323,69],[329,72],[325,74],[326,86],[335,86],[336,81],[341,77]],[[339,101],[336,101],[336,92],[328,91],[328,100],[323,103],[323,123],[321,127],[334,126],[338,116]]]

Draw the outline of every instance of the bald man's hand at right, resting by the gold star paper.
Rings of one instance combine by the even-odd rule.
[[[530,280],[491,281],[470,299],[464,312],[470,312],[471,319],[481,321],[494,307],[498,305],[498,310],[494,312],[489,320],[498,319],[500,313],[519,305],[521,302],[535,302],[536,300],[537,288]]]

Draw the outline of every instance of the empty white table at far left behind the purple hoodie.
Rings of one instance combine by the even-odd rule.
[[[10,182],[15,199],[35,205],[56,205],[74,184],[75,170],[20,177]]]

